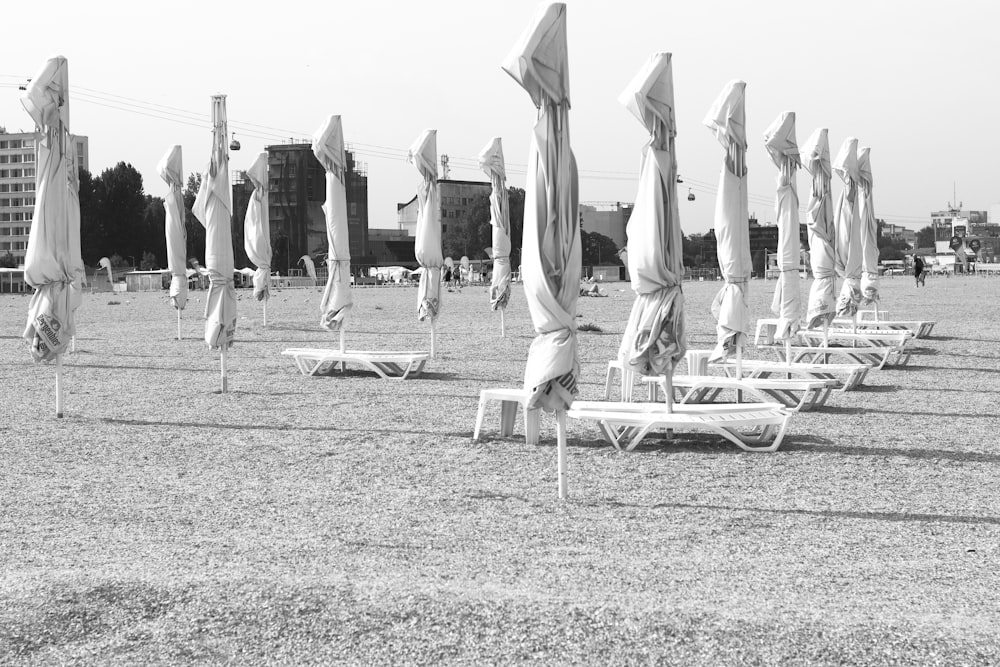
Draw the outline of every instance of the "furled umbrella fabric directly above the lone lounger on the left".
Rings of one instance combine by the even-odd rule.
[[[313,135],[313,155],[326,170],[327,280],[320,302],[320,325],[341,331],[353,305],[351,299],[351,248],[347,226],[347,156],[340,116],[330,116]]]

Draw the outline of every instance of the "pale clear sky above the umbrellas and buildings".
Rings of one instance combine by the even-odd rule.
[[[209,157],[209,96],[226,93],[250,165],[264,146],[307,140],[329,114],[368,166],[369,224],[394,227],[419,180],[406,149],[438,130],[451,177],[485,180],[475,158],[504,142],[523,186],[535,111],[500,63],[540,3],[56,0],[5,21],[0,124],[30,130],[18,83],[51,55],[69,59],[71,130],[90,137],[91,171],[119,161],[164,194],[155,165],[181,144],[186,172]],[[871,147],[875,212],[919,229],[946,208],[1000,203],[1000,5],[982,0],[570,0],[570,131],[584,202],[632,201],[643,128],[618,103],[656,51],[673,53],[685,233],[712,224],[722,148],[701,124],[730,79],[747,82],[750,210],[773,221],[776,170],[763,132],[785,110],[802,143],[830,129]],[[8,12],[7,19],[14,17]],[[839,185],[835,185],[835,193]],[[799,192],[808,194],[805,174]]]

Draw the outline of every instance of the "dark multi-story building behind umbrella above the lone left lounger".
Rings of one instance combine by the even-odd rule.
[[[303,255],[327,251],[326,172],[307,143],[267,147],[268,197],[272,268],[287,274]],[[363,263],[368,252],[368,171],[347,153],[347,227],[352,263]],[[245,185],[244,185],[245,188]],[[236,206],[234,210],[238,210]],[[234,216],[235,218],[235,216]],[[233,220],[242,238],[243,219]]]

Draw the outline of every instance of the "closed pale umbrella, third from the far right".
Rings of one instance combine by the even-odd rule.
[[[817,128],[802,146],[805,170],[810,176],[809,203],[806,206],[806,228],[809,233],[809,264],[813,283],[806,306],[806,327],[830,326],[837,314],[836,290],[836,226],[833,218],[833,192],[830,182],[829,131]]]

